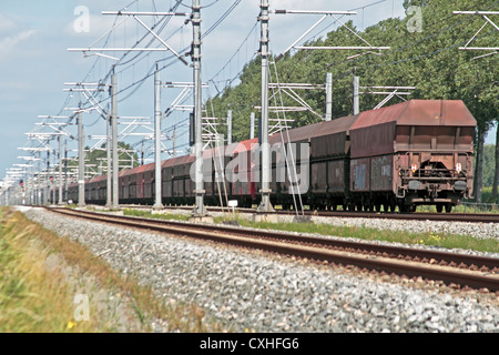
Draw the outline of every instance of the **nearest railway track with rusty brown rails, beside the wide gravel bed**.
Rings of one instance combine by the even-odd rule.
[[[469,286],[499,292],[499,258],[497,257],[312,237],[268,230],[247,230],[179,221],[156,221],[63,207],[45,209],[64,215],[150,230],[169,235],[211,240],[218,243],[305,257],[322,263],[355,265],[370,271],[406,275],[408,277],[420,276],[462,287]]]

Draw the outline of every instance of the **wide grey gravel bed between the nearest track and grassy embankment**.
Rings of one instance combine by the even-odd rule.
[[[195,303],[206,317],[234,332],[499,331],[499,302],[490,295],[377,282],[333,267],[80,221],[42,209],[23,213],[85,245],[141,284],[152,285],[157,296]]]

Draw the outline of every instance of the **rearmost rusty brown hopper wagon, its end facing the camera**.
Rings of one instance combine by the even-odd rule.
[[[360,113],[350,126],[354,204],[450,212],[472,192],[476,124],[460,100],[410,100]]]

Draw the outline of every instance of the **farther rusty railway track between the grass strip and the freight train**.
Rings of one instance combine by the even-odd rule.
[[[123,209],[151,209],[146,205],[122,205]],[[192,210],[192,206],[166,206],[167,210]],[[230,207],[207,207],[213,212],[232,212]],[[256,213],[253,209],[237,209],[241,213]],[[276,210],[275,214],[296,215],[294,211]],[[469,222],[469,223],[499,223],[499,213],[379,213],[379,212],[349,212],[349,211],[305,211],[305,215],[323,217],[352,217],[352,219],[387,219],[413,221],[442,221],[442,222]]]

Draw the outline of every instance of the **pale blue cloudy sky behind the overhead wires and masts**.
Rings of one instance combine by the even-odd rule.
[[[26,133],[53,132],[50,128],[37,123],[47,122],[39,115],[71,115],[64,108],[78,106],[85,101],[81,93],[69,93],[63,89],[68,82],[99,82],[105,79],[112,65],[116,64],[120,116],[154,115],[154,81],[152,69],[160,61],[162,81],[192,81],[192,69],[182,63],[172,52],[133,52],[123,58],[123,52],[102,52],[120,61],[81,51],[78,48],[130,48],[142,38],[146,30],[131,17],[105,16],[102,11],[169,11],[174,0],[1,0],[0,1],[0,180],[6,170],[13,164],[24,164],[19,156],[27,151],[19,148],[38,146],[38,141],[29,140]],[[357,10],[352,19],[358,29],[376,24],[387,18],[404,18],[401,0],[271,0],[271,10]],[[190,12],[192,1],[184,0],[177,12]],[[256,55],[259,41],[259,0],[201,0],[202,33],[207,32],[223,19],[213,31],[203,38],[202,77],[210,87],[203,90],[203,100],[213,97],[227,82],[237,77],[244,64]],[[236,4],[232,8],[233,4]],[[228,11],[228,13],[227,13]],[[225,17],[223,17],[226,14]],[[145,26],[152,27],[154,17],[139,17]],[[282,53],[314,24],[317,14],[273,14],[269,21],[271,50]],[[192,41],[191,23],[185,17],[174,17],[160,37],[179,53],[184,53]],[[123,22],[122,22],[123,21]],[[332,20],[313,31],[313,36],[324,36],[337,28]],[[114,30],[110,31],[115,26]],[[320,32],[322,31],[322,32]],[[150,43],[151,36],[138,47]],[[389,45],[379,43],[378,45]],[[157,40],[150,48],[164,48]],[[139,57],[135,58],[135,55]],[[184,57],[185,58],[185,57]],[[185,58],[191,63],[190,58]],[[144,79],[145,78],[145,79]],[[162,89],[161,105],[164,111],[180,94],[181,89]],[[102,98],[105,98],[103,93]],[[102,99],[102,109],[109,100]],[[187,102],[185,104],[191,104]],[[176,128],[177,139],[186,136],[186,113],[175,111],[163,119],[163,128]],[[59,120],[63,122],[64,120]],[[68,120],[65,120],[68,121]],[[99,142],[98,135],[105,134],[105,124],[96,111],[85,113],[83,118],[85,134],[90,136],[86,145]],[[121,126],[125,129],[125,126]],[[67,131],[75,135],[75,126],[68,125]],[[149,132],[147,126],[138,128],[135,133]],[[171,132],[170,132],[171,133]],[[167,133],[167,134],[170,134]],[[130,135],[132,139],[132,135]],[[135,141],[138,139],[135,138]],[[495,142],[495,133],[489,132],[488,143]],[[170,143],[165,143],[166,145]],[[181,143],[180,143],[181,144]],[[184,144],[185,145],[185,144]],[[51,148],[55,148],[53,141]],[[70,156],[77,153],[77,143],[68,143]],[[138,148],[138,146],[135,146]],[[185,148],[185,146],[184,146]],[[138,148],[139,149],[139,148]],[[147,149],[147,148],[146,148]],[[45,153],[44,153],[45,154]],[[165,159],[167,155],[164,155]]]

